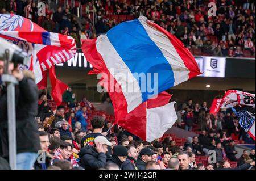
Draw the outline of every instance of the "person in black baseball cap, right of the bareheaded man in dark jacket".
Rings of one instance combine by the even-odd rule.
[[[143,148],[139,153],[138,161],[136,162],[136,166],[139,170],[145,170],[147,162],[150,162],[152,159],[152,155],[154,155],[154,151],[150,148]]]

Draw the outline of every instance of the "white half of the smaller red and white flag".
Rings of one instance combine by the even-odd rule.
[[[163,136],[174,125],[177,114],[174,108],[175,102],[161,107],[146,109],[146,141],[151,142]]]

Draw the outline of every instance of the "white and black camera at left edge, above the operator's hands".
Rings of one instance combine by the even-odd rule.
[[[27,64],[28,56],[26,52],[24,52],[17,45],[0,38],[0,60],[6,59],[6,50],[9,50],[9,56],[7,57],[7,61],[14,63],[14,66],[18,64]]]

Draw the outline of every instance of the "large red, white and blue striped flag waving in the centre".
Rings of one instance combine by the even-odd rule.
[[[144,16],[123,22],[97,39],[84,40],[82,50],[93,65],[91,74],[101,73],[101,85],[109,92],[115,117],[125,117],[147,99],[200,74],[195,58],[181,41]],[[136,76],[141,73],[151,77],[142,81]],[[129,87],[134,91],[127,91]]]

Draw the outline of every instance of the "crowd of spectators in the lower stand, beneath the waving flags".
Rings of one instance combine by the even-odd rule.
[[[244,135],[233,113],[221,110],[220,116],[209,115],[206,102],[193,106],[189,99],[177,109],[176,126],[199,136],[184,140],[164,134],[147,142],[118,125],[110,128],[114,117],[97,111],[85,96],[76,102],[70,87],[63,95],[63,105],[56,107],[56,111],[47,99],[51,96],[43,91],[39,95],[36,121],[48,161],[44,166],[36,162],[34,169],[243,170],[255,165],[255,149],[250,154],[245,150],[236,158],[238,152],[234,145]],[[245,136],[246,143],[255,143]],[[208,162],[210,150],[216,151],[216,163]]]

